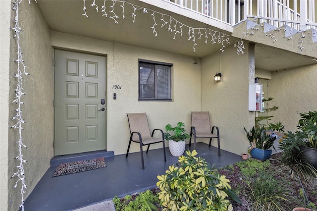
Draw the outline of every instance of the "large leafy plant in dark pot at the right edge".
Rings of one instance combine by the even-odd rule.
[[[288,131],[280,142],[282,163],[304,181],[317,177],[317,111],[300,113],[295,132]]]

